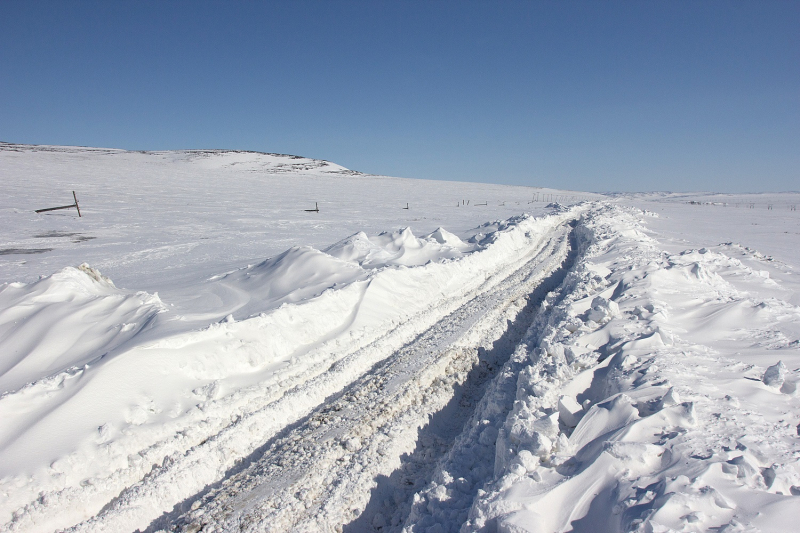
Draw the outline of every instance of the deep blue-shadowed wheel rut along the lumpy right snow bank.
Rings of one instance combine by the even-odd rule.
[[[529,346],[526,345],[535,340],[536,331],[540,329],[537,326],[548,316],[547,312],[540,311],[541,303],[548,293],[561,285],[577,253],[573,231],[570,233],[570,250],[561,267],[527,296],[525,307],[509,323],[506,332],[491,343],[492,348],[485,352],[486,357],[481,357],[481,367],[484,361],[490,361],[489,365],[493,366],[491,371],[486,372],[486,376],[479,375],[478,379],[468,379],[464,390],[454,395],[451,403],[457,400],[461,406],[457,411],[461,432],[452,435],[437,456],[438,460],[431,460],[431,445],[425,441],[435,441],[442,433],[442,426],[446,429],[452,425],[452,420],[446,418],[452,414],[448,413],[447,408],[436,413],[420,431],[414,454],[404,458],[401,467],[390,476],[379,479],[367,509],[344,527],[345,533],[372,530],[386,533],[399,531],[401,527],[404,531],[414,528],[424,519],[418,511],[421,504],[424,506],[425,497],[430,496],[425,494],[425,497],[420,497],[421,491],[426,489],[426,493],[431,492],[430,482],[433,480],[437,481],[437,485],[454,482],[453,485],[457,487],[455,493],[437,493],[434,496],[448,500],[453,525],[466,521],[478,490],[493,477],[495,470],[497,428],[489,419],[495,420],[496,424],[497,420],[504,420],[513,407],[518,373],[528,360]],[[414,476],[413,472],[417,472],[417,475]],[[434,489],[432,492],[437,491]],[[402,494],[400,498],[398,493]],[[424,527],[422,525],[419,530],[424,531]]]

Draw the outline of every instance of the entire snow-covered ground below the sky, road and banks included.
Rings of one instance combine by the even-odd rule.
[[[0,179],[2,531],[797,530],[798,193],[12,144]]]

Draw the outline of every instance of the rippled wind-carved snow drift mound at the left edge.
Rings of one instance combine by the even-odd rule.
[[[86,264],[0,288],[0,396],[108,356],[166,311]],[[41,385],[41,384],[40,384]]]

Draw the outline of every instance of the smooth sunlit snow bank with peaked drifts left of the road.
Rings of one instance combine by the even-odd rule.
[[[103,327],[113,332],[109,324],[134,323],[136,317],[138,329],[125,331],[135,333],[146,324],[150,331],[140,338],[112,335],[99,347],[93,344],[97,335],[81,337],[69,366],[92,363],[41,391],[38,411],[19,409],[35,404],[25,387],[0,399],[8,435],[0,461],[5,527],[67,527],[104,506],[100,517],[79,529],[146,527],[343,386],[327,379],[312,392],[302,388],[304,383],[387,331],[405,327],[395,342],[407,342],[489,273],[516,268],[520,255],[568,216],[493,223],[470,244],[442,229],[420,239],[406,228],[374,237],[356,234],[326,253],[292,248],[210,279],[197,288],[198,300],[190,306],[198,312],[168,311],[155,322],[146,318],[165,307],[139,294],[126,296],[138,302],[138,314],[103,315],[105,325],[97,326],[92,306],[109,309],[108,302],[120,307],[127,300],[110,282],[66,270],[80,287],[64,285],[30,315],[31,324],[52,327],[51,318],[37,322],[36,316],[71,305],[66,324],[75,331]],[[20,306],[44,287],[6,289],[17,298],[9,300],[6,313],[19,314]],[[91,298],[81,299],[85,287],[92,289]],[[99,293],[105,300],[98,300]],[[197,329],[209,319],[215,323]],[[12,328],[13,339],[16,331]],[[32,357],[21,341],[15,346],[20,364]],[[113,357],[97,357],[115,347]],[[359,368],[374,362],[365,358],[355,374],[341,379],[357,377]],[[18,382],[24,381],[20,374]],[[292,390],[299,394],[287,395]],[[281,398],[291,398],[290,408]],[[57,444],[48,438],[54,434],[60,436]]]

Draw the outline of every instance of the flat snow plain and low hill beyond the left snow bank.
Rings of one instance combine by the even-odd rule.
[[[176,307],[208,277],[292,247],[324,250],[359,232],[381,247],[398,228],[426,240],[444,227],[467,241],[487,220],[549,212],[533,198],[562,193],[371,176],[280,154],[7,143],[0,176],[1,281],[31,282],[86,262],[118,287],[158,292]],[[83,217],[74,209],[34,212],[71,203],[72,191]],[[407,251],[401,261],[424,260]]]

